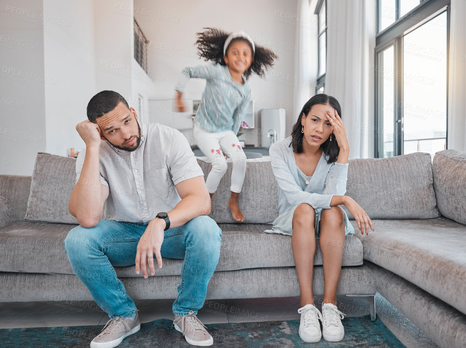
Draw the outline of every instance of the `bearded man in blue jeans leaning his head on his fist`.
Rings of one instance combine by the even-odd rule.
[[[134,301],[113,266],[136,264],[136,273],[148,278],[147,266],[155,274],[154,255],[159,268],[162,257],[184,259],[174,326],[188,343],[212,345],[196,314],[219,260],[222,233],[206,216],[210,196],[186,138],[158,123],[139,125],[136,111],[114,91],[93,96],[87,116],[76,125],[86,148],[69,198],[79,226],[63,245],[74,272],[110,317],[90,347],[116,347],[139,330]]]

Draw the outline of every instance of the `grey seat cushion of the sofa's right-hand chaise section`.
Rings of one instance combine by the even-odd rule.
[[[356,222],[351,221],[355,226]],[[466,314],[466,226],[449,218],[372,220],[364,259]],[[402,291],[402,289],[401,289]]]

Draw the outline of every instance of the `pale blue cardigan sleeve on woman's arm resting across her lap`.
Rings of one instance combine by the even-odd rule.
[[[283,153],[280,149],[277,149],[275,144],[269,148],[270,163],[272,164],[272,171],[274,172],[278,186],[284,193],[288,203],[291,206],[307,203],[314,209],[330,209],[330,201],[332,200],[333,194],[302,191],[301,187],[296,183],[295,178],[290,173]]]

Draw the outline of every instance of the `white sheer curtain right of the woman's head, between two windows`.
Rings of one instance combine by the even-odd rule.
[[[325,93],[342,107],[349,142],[349,158],[367,158],[373,139],[369,123],[369,40],[375,14],[370,0],[327,0],[327,73]],[[370,7],[372,8],[372,7]]]

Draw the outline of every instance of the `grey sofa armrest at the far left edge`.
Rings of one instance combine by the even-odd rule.
[[[30,190],[31,177],[0,175],[0,196],[7,200],[9,223],[24,220]],[[0,221],[2,221],[1,218]]]

